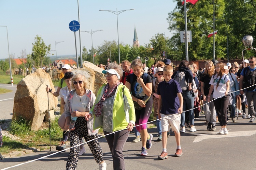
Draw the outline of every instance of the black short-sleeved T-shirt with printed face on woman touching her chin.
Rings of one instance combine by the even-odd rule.
[[[144,74],[146,74],[146,73],[143,73],[140,78],[143,79]],[[129,74],[126,78],[126,81],[131,84],[131,94],[134,97],[136,97],[137,99],[140,99],[140,100],[146,100],[149,97],[143,91],[141,84],[139,84],[137,82],[137,76],[134,73]],[[150,75],[147,74],[145,80],[143,79],[143,82],[145,85],[147,83],[152,83]],[[149,100],[152,100],[152,99],[149,99]]]

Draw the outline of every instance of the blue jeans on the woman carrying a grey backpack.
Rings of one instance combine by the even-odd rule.
[[[194,125],[194,97],[192,97],[192,94],[190,91],[185,91],[182,93],[183,97],[183,112],[181,114],[181,125],[182,127],[185,126],[185,112],[186,111],[186,105],[187,109],[190,110],[188,111],[189,114],[189,120],[190,120],[190,125]]]

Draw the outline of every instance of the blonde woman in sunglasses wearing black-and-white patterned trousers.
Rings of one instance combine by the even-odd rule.
[[[99,164],[99,169],[106,169],[106,163],[103,160],[103,152],[98,142],[98,129],[93,130],[93,118],[85,118],[86,114],[93,107],[95,95],[89,89],[86,89],[86,79],[82,74],[75,74],[72,78],[72,90],[67,98],[65,108],[65,118],[69,127],[71,117],[77,117],[74,128],[70,129],[70,147],[79,145],[84,137],[93,153],[94,159]],[[66,164],[66,169],[76,169],[79,157],[79,146],[71,148]]]

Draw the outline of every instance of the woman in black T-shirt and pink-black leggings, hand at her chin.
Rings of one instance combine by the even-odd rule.
[[[143,65],[139,59],[133,60],[131,63],[131,68],[133,70],[132,74],[129,74],[126,78],[126,87],[131,91],[131,97],[133,100],[136,114],[136,129],[141,134],[141,156],[147,155],[147,149],[150,149],[152,146],[151,140],[153,138],[152,134],[147,133],[147,120],[150,117],[152,111],[152,80],[151,77],[143,72]],[[141,89],[144,92],[144,96],[136,97],[136,92],[134,87],[139,83]],[[138,125],[138,126],[137,126]]]

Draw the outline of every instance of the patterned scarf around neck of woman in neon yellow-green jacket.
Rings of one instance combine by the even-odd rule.
[[[119,84],[120,84],[119,82],[116,83],[114,85],[114,87],[109,92],[108,92],[109,83],[106,84],[106,86],[104,88],[104,91],[103,91],[103,95],[102,95],[100,101],[94,106],[94,109],[93,109],[94,114],[95,114],[96,117],[99,117],[102,114],[103,102],[106,100],[106,98],[112,97],[115,94],[117,86]]]

